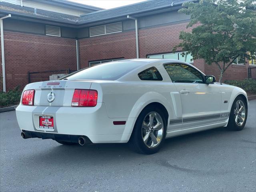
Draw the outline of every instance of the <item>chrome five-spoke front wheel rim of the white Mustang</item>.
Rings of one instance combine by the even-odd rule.
[[[234,118],[238,126],[242,126],[244,124],[244,120],[246,118],[246,108],[242,100],[236,101],[236,105],[234,107]]]

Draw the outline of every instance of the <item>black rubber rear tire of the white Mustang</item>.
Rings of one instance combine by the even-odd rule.
[[[150,125],[150,123],[147,126],[151,132],[150,131],[146,132],[146,130],[144,130],[142,128],[142,123],[144,122],[144,119],[146,119],[147,116],[150,117],[150,115],[149,115],[150,113],[155,114],[155,117],[153,117],[153,119],[154,119],[154,122],[156,122],[156,124],[159,123],[156,118],[160,119],[159,115],[162,118],[161,130],[153,130],[153,128],[151,128],[151,130],[150,130],[150,126],[148,126],[148,125]],[[152,126],[153,125],[154,125],[154,123],[152,123]],[[148,140],[147,140],[149,145],[150,145],[150,142],[151,142],[152,146],[154,145],[153,138],[152,138],[151,134],[154,134],[155,138],[158,138],[158,140],[159,140],[159,138],[161,138],[160,141],[158,142],[158,144],[156,144],[156,146],[154,146],[154,147],[148,146],[147,143],[146,144],[144,143],[143,134],[148,134],[149,132],[150,132],[150,136],[148,136]],[[138,118],[136,120],[134,129],[133,129],[130,141],[129,141],[130,147],[132,148],[132,150],[134,150],[138,153],[154,154],[154,153],[158,152],[158,150],[163,145],[165,136],[166,136],[166,120],[164,118],[164,114],[163,114],[162,110],[160,110],[159,108],[157,108],[156,106],[153,106],[153,105],[147,106],[146,108],[144,108],[142,110],[142,112],[140,113],[140,115],[138,116]],[[156,141],[156,140],[154,140],[154,141]],[[152,147],[152,148],[150,148],[150,147]]]

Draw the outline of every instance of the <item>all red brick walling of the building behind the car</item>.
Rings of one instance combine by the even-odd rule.
[[[181,30],[187,32],[187,23],[178,23],[139,30],[140,58],[150,54],[172,52],[172,48],[180,42]],[[51,36],[40,36],[18,32],[4,32],[6,88],[7,90],[28,83],[28,71],[76,70],[76,42],[74,39]],[[135,31],[108,34],[79,40],[80,67],[89,66],[89,61],[112,58],[136,58]],[[1,59],[1,58],[0,58]],[[205,74],[219,77],[215,64],[209,66],[204,60],[194,60],[194,66]],[[247,77],[248,64],[230,66],[224,74],[224,80],[240,80]],[[0,68],[2,76],[2,68]],[[2,78],[0,78],[2,90]]]

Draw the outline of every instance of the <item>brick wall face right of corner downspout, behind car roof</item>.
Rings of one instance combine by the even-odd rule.
[[[149,54],[172,52],[172,48],[180,42],[181,30],[191,31],[186,28],[187,23],[166,26],[157,26],[139,30],[140,58]],[[92,60],[112,58],[136,58],[135,31],[109,34],[79,40],[80,66],[87,67]],[[204,60],[195,60],[194,66],[204,72]]]

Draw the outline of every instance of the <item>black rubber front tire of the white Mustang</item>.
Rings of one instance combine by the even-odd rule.
[[[243,123],[239,126],[237,123],[236,123],[236,114],[235,114],[235,111],[236,111],[236,103],[238,101],[242,101],[243,104],[244,104],[244,112],[245,112],[245,116],[244,116],[244,120],[243,120]],[[245,124],[246,124],[246,120],[247,120],[247,112],[248,112],[248,109],[247,109],[247,102],[246,100],[244,100],[244,98],[242,98],[242,96],[238,96],[233,104],[232,104],[232,107],[231,107],[231,111],[230,111],[230,116],[229,116],[229,120],[228,120],[228,130],[233,130],[233,131],[240,131],[244,128]],[[240,113],[238,113],[240,114]],[[238,119],[238,121],[240,121]]]

